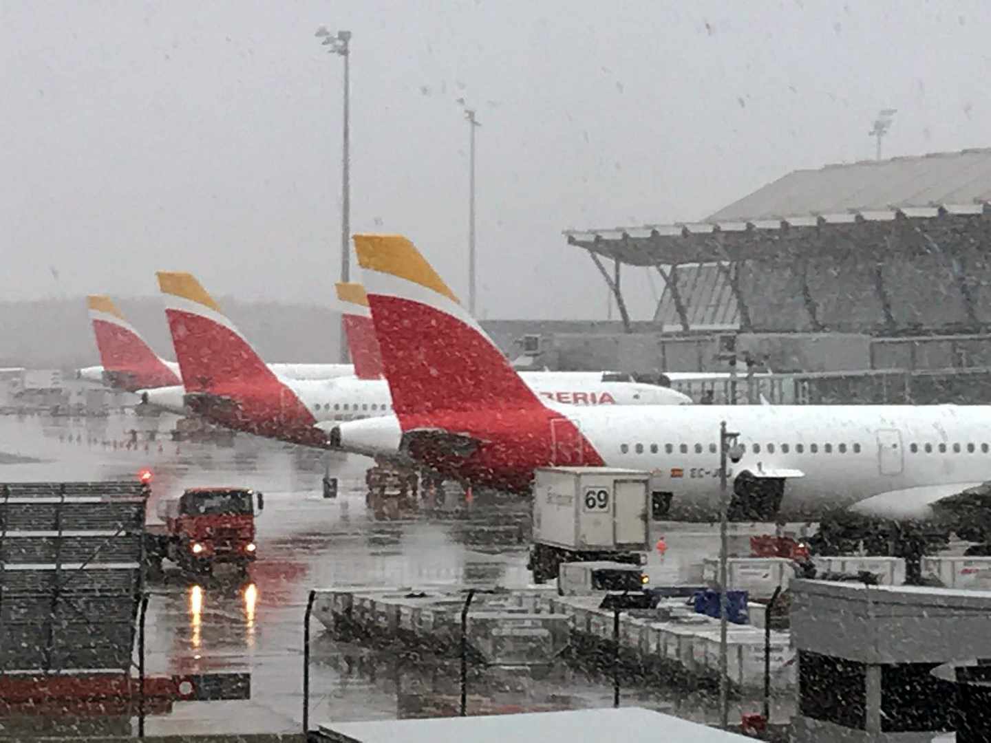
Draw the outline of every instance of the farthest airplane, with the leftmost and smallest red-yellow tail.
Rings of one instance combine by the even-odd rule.
[[[103,364],[77,370],[77,378],[120,387],[129,392],[181,385],[179,365],[158,356],[110,297],[90,294],[86,297],[86,305]],[[287,379],[327,379],[354,373],[354,367],[350,364],[269,366]]]

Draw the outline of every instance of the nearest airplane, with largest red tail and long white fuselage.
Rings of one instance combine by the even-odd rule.
[[[539,467],[646,471],[654,517],[698,521],[718,517],[724,421],[734,520],[925,520],[987,497],[991,406],[560,405],[523,383],[412,243],[355,247],[393,408],[320,424],[333,446],[523,493]]]

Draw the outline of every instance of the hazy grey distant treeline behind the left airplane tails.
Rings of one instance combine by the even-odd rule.
[[[340,314],[307,304],[218,303],[271,362],[336,362]],[[160,356],[174,360],[159,297],[120,299],[128,321]],[[75,369],[100,363],[84,297],[0,302],[0,367]]]

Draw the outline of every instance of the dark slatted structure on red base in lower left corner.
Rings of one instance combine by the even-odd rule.
[[[0,484],[0,720],[128,720],[250,697],[250,676],[148,678],[139,480]],[[135,660],[135,643],[138,657]]]

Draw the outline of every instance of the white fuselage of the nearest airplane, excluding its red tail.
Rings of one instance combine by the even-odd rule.
[[[781,472],[786,476],[781,513],[788,518],[855,503],[865,512],[925,516],[935,490],[897,491],[991,480],[991,406],[556,409],[581,428],[606,466],[653,473],[655,489],[673,495],[674,518],[687,507],[718,512],[721,421],[739,433],[746,450],[731,464],[730,479],[743,471],[758,477]]]

